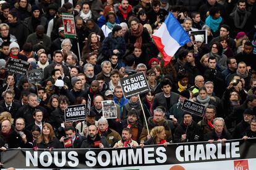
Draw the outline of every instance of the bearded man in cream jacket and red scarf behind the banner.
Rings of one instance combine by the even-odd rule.
[[[132,140],[132,132],[130,128],[125,127],[122,129],[122,139],[114,144],[113,148],[123,148],[123,147],[138,147],[139,144]]]

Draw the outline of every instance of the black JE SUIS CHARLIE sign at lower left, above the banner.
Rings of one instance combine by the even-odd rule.
[[[72,105],[65,109],[65,122],[85,120],[86,105]]]

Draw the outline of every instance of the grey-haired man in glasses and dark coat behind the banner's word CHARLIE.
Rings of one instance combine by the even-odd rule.
[[[224,143],[226,140],[232,139],[232,136],[229,134],[228,130],[224,129],[224,125],[225,122],[223,118],[216,117],[213,119],[214,130],[212,132],[208,132],[203,140],[208,141],[209,143],[213,143],[214,141]]]

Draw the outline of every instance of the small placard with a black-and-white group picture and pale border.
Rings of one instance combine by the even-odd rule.
[[[114,104],[113,100],[101,101],[101,104],[103,117],[105,117],[106,119],[117,118],[116,104]]]

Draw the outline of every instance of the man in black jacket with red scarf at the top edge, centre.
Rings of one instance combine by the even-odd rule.
[[[128,0],[122,0],[121,5],[118,7],[116,15],[120,22],[128,22],[129,18],[134,15],[132,12],[132,6],[129,4]]]

